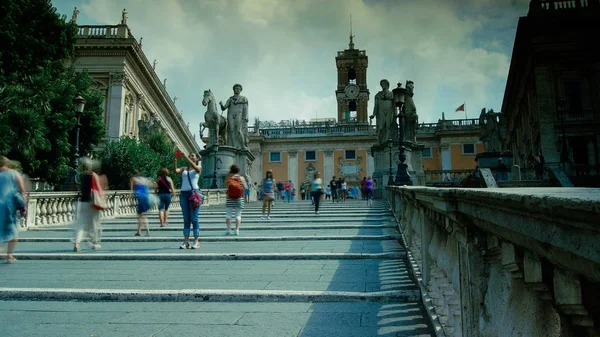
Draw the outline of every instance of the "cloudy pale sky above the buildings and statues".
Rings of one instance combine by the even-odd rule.
[[[218,100],[244,87],[250,120],[337,116],[335,56],[369,56],[369,113],[379,80],[415,83],[421,122],[501,108],[519,16],[528,0],[53,0],[77,23],[114,25],[123,8],[143,50],[191,125],[203,121],[202,92]],[[196,127],[192,132],[197,133]]]

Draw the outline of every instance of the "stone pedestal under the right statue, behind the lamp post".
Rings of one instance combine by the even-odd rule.
[[[399,147],[399,143],[394,142],[391,148],[392,180],[395,180],[396,178],[398,163],[400,162],[398,159]],[[425,173],[423,172],[422,159],[422,150],[424,146],[405,141],[404,147],[406,148],[404,150],[404,154],[406,155],[406,161],[404,163],[408,165],[408,173],[410,174],[413,185],[425,185]],[[381,199],[385,197],[383,191],[385,191],[385,187],[388,185],[390,178],[390,147],[387,144],[374,145],[371,148],[371,151],[373,153],[373,158],[375,159],[373,179],[377,181],[374,197],[376,199]]]

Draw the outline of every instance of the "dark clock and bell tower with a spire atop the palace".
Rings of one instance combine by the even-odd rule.
[[[352,16],[350,16],[350,43],[348,49],[337,52],[335,65],[338,70],[337,89],[335,90],[338,104],[338,121],[349,121],[350,116],[356,115],[356,121],[368,122],[367,67],[369,66],[369,58],[364,50],[354,48]]]

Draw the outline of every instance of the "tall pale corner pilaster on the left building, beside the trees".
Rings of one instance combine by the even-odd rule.
[[[110,140],[118,140],[121,136],[126,80],[127,74],[124,71],[110,73],[109,98],[106,107],[106,137]]]

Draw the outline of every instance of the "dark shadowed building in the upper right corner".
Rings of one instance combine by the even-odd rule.
[[[504,148],[521,167],[560,166],[600,186],[600,1],[533,0],[521,17],[504,93]]]

